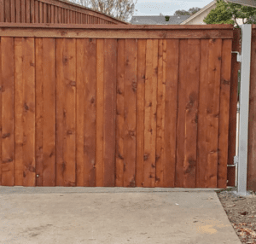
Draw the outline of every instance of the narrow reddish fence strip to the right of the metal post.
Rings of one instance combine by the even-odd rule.
[[[248,124],[247,189],[256,191],[256,25],[252,30],[251,80]]]

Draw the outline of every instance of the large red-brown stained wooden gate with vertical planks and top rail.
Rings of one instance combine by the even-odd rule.
[[[233,26],[1,23],[0,38],[2,185],[226,187]]]

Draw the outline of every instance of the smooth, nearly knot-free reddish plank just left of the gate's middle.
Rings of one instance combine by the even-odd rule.
[[[117,40],[105,39],[104,53],[104,127],[103,159],[104,186],[114,186],[115,162],[115,104]]]

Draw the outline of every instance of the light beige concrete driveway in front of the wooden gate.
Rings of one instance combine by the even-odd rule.
[[[0,243],[241,243],[206,189],[0,187]]]

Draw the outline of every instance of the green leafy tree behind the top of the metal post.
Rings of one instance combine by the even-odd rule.
[[[242,19],[243,24],[256,23],[256,9],[252,7],[242,6],[236,3],[225,3],[218,0],[216,8],[204,19],[207,24],[232,24],[237,25],[237,19]]]

